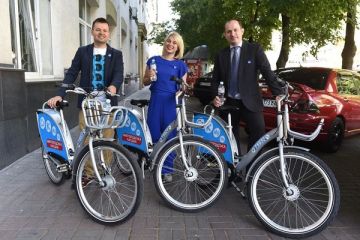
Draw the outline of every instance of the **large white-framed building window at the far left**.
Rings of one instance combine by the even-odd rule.
[[[10,1],[11,46],[16,68],[53,74],[50,10],[48,0]]]

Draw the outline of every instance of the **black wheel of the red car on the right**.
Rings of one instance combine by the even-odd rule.
[[[345,124],[344,121],[337,117],[331,123],[329,132],[328,132],[328,139],[325,144],[325,151],[326,152],[337,152],[339,150],[342,140],[344,138],[344,131],[345,131]]]

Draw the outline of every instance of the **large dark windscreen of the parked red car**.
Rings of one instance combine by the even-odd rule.
[[[328,79],[329,70],[313,70],[313,69],[286,69],[278,71],[278,76],[288,82],[304,84],[315,90],[324,90],[326,80]]]

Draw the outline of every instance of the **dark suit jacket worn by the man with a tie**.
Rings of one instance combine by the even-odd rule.
[[[220,81],[225,85],[227,96],[230,81],[230,47],[222,49],[215,57],[212,93],[217,95],[217,87]],[[263,109],[262,96],[259,91],[258,74],[265,78],[274,95],[282,93],[282,89],[276,81],[276,75],[272,72],[270,63],[259,44],[243,41],[239,62],[238,89],[246,108],[253,112]]]

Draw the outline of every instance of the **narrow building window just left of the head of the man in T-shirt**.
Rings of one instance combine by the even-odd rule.
[[[91,43],[90,5],[86,0],[79,1],[80,46]]]

